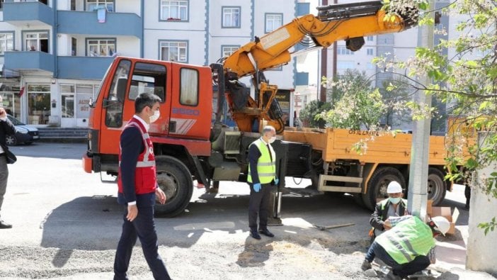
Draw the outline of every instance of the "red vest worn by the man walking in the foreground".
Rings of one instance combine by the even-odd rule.
[[[157,184],[154,145],[152,144],[152,140],[150,140],[149,133],[147,133],[147,130],[140,121],[136,118],[131,118],[124,130],[132,126],[138,128],[142,133],[145,146],[144,151],[139,154],[137,160],[137,167],[135,169],[135,191],[136,194],[150,194],[155,191]],[[119,147],[118,187],[119,192],[123,193],[121,181],[121,147]]]

